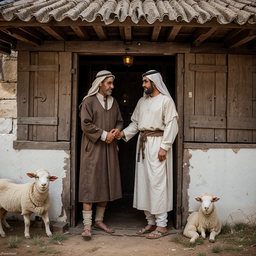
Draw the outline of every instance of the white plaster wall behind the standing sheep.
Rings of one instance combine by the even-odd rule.
[[[11,179],[15,183],[33,182],[27,172],[35,172],[38,169],[46,169],[51,175],[59,178],[50,182],[50,209],[49,219],[51,221],[65,221],[66,215],[59,217],[62,210],[62,179],[66,177],[66,161],[69,151],[64,150],[30,150],[13,149],[12,143],[16,140],[15,134],[0,134],[0,178]],[[31,219],[34,218],[31,215]],[[8,213],[8,219],[21,219],[22,215]]]

